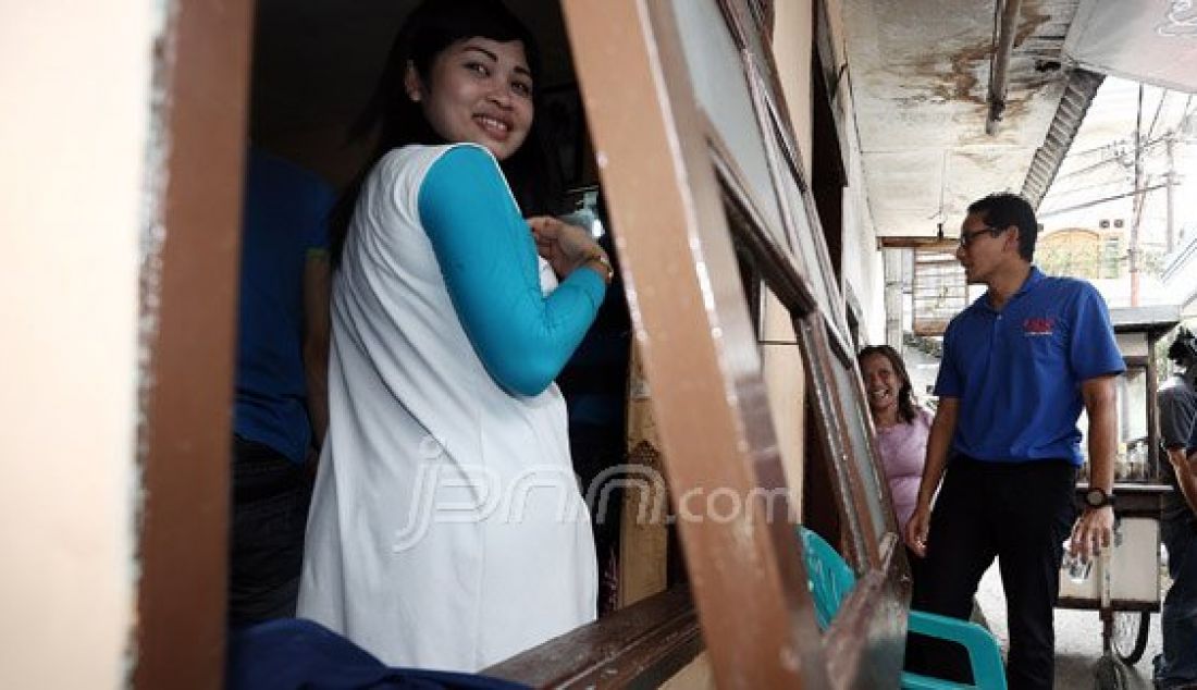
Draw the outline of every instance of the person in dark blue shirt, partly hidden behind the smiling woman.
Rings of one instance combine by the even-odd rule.
[[[328,426],[333,193],[251,149],[245,168],[229,624],[294,615],[311,468]]]

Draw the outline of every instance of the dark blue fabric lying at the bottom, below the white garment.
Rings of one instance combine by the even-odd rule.
[[[390,668],[353,642],[303,618],[268,621],[230,632],[225,686],[229,690],[527,688],[469,673]]]

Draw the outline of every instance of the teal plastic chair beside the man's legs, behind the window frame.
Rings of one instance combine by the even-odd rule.
[[[803,552],[806,553],[807,577],[809,577],[808,585],[815,603],[815,618],[819,622],[819,629],[826,630],[839,612],[844,599],[856,587],[856,574],[822,537],[801,525],[798,534],[802,537]],[[901,674],[903,688],[912,690],[946,688],[1005,690],[1002,652],[998,649],[997,640],[990,635],[989,630],[967,621],[915,610],[911,610],[906,619],[906,629],[911,632],[962,646],[968,652],[968,664],[972,666],[973,683],[976,684],[965,685],[904,671]]]

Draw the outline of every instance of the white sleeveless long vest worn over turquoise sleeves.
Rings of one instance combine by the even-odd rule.
[[[298,616],[393,666],[478,671],[593,621],[597,577],[557,385],[491,379],[420,225],[449,149],[389,152],[358,200]]]

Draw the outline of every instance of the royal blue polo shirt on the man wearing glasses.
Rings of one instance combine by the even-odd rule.
[[[1093,285],[1032,267],[1001,311],[986,292],[952,320],[935,394],[960,400],[958,454],[1080,465],[1081,383],[1125,368]]]

